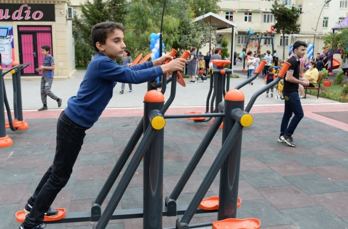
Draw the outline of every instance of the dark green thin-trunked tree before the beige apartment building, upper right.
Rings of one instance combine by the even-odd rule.
[[[299,18],[299,11],[294,6],[279,4],[277,1],[272,5],[272,14],[276,19],[273,25],[275,31],[283,34],[283,60],[285,60],[285,34],[299,33],[299,25],[296,24]]]

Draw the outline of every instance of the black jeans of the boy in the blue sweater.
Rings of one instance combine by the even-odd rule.
[[[28,200],[33,207],[25,218],[25,227],[31,228],[42,224],[44,215],[58,192],[68,183],[87,129],[89,128],[74,123],[65,115],[64,111],[59,116],[53,165],[48,168],[33,196]]]

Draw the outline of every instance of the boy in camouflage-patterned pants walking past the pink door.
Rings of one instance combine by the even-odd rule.
[[[44,45],[41,47],[41,53],[44,55],[44,60],[42,61],[42,65],[37,71],[42,71],[41,78],[41,101],[44,106],[40,108],[38,111],[47,110],[47,95],[53,100],[57,101],[58,107],[62,106],[62,99],[58,98],[53,92],[51,92],[51,87],[53,83],[53,70],[55,69],[54,58],[49,54],[50,47]]]

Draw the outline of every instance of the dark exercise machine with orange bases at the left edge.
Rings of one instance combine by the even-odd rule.
[[[2,72],[0,66],[0,148],[9,147],[13,144],[12,139],[6,135],[6,128],[10,128],[12,131],[21,131],[29,128],[29,125],[23,120],[23,110],[22,110],[22,89],[21,89],[21,71],[29,66],[31,63],[19,64],[19,62],[14,61],[12,63],[12,68],[5,72]],[[14,107],[14,120],[11,116],[11,109],[8,104],[5,81],[3,77],[7,73],[12,74],[13,83],[13,107]],[[5,122],[5,108],[7,111],[7,119]]]

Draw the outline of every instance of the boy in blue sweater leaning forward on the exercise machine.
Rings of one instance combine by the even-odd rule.
[[[76,96],[68,100],[68,106],[58,118],[57,145],[53,165],[42,177],[33,196],[26,205],[25,221],[19,229],[42,229],[44,215],[54,216],[58,212],[51,208],[58,192],[68,182],[77,156],[84,141],[85,131],[98,120],[109,103],[116,82],[141,84],[167,72],[183,71],[186,60],[162,56],[154,61],[135,66],[115,63],[124,54],[124,27],[114,22],[103,22],[92,28],[91,38],[98,53],[89,63],[84,79]]]

